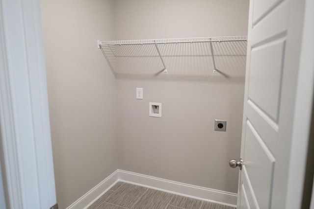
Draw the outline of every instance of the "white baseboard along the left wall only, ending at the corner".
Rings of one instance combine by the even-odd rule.
[[[81,196],[77,201],[66,209],[85,209],[89,207],[93,202],[95,202],[99,197],[101,197],[111,186],[113,186],[119,179],[119,170],[114,171],[107,178],[105,178],[101,183],[96,185],[94,188],[89,190],[86,194]]]

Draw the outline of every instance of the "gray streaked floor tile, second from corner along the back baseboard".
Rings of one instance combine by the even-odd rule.
[[[165,209],[172,197],[173,194],[148,189],[132,209]]]

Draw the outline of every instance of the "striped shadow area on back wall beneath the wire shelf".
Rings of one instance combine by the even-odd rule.
[[[166,80],[243,81],[246,42],[212,42],[217,73],[208,42],[155,45],[107,45],[102,50],[116,77]]]

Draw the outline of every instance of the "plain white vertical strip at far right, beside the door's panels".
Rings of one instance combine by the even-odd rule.
[[[302,44],[288,171],[287,209],[301,208],[313,111],[314,1],[305,0],[304,6],[303,31],[302,37],[300,37]]]

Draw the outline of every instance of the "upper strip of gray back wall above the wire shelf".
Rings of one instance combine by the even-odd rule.
[[[249,0],[115,0],[116,40],[247,34]]]

